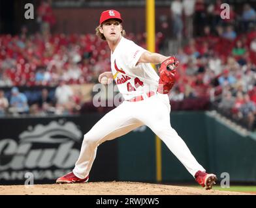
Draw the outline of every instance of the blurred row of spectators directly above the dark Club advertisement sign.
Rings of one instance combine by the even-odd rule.
[[[64,80],[49,90],[25,90],[20,92],[13,86],[10,92],[0,90],[0,116],[46,116],[51,114],[79,114],[82,107],[82,96],[79,90],[66,85]]]

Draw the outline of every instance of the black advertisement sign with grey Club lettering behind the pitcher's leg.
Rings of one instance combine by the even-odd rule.
[[[71,172],[84,134],[101,116],[1,119],[0,183],[22,184],[28,172],[35,183],[52,183]],[[90,181],[117,179],[115,143],[113,140],[99,147]]]

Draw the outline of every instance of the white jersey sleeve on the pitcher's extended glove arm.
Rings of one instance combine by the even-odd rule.
[[[129,67],[135,68],[138,59],[140,59],[140,56],[146,49],[136,45],[133,41],[129,41],[128,43],[129,45],[127,44],[125,47],[125,58],[127,59]]]

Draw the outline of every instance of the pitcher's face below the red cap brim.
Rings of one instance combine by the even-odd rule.
[[[117,41],[121,38],[123,30],[120,21],[116,19],[108,19],[103,23],[100,32],[104,34],[106,40]]]

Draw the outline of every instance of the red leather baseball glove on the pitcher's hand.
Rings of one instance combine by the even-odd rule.
[[[170,92],[176,81],[175,74],[178,63],[176,57],[169,57],[161,63],[158,70],[160,79],[157,92],[161,94],[168,94]]]

